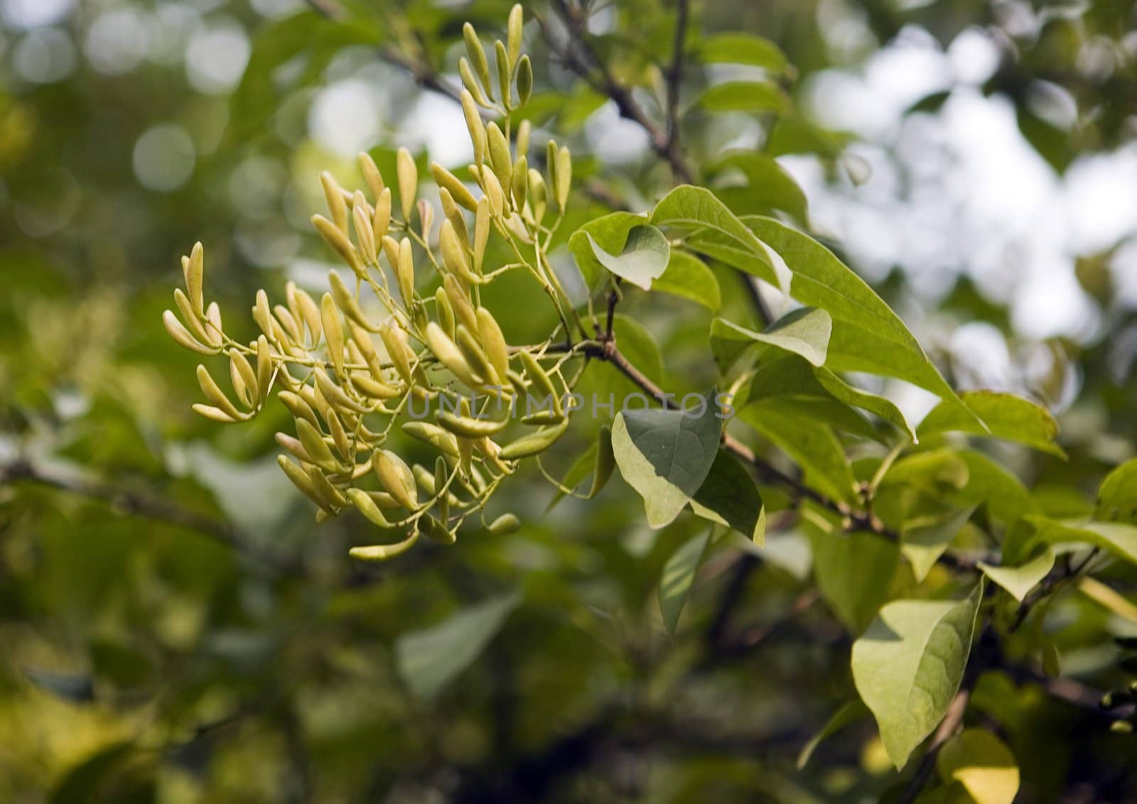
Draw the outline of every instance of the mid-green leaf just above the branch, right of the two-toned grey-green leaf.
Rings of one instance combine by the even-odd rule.
[[[802,419],[792,399],[770,400],[761,408],[747,405],[738,418],[792,458],[805,471],[807,485],[827,496],[853,501],[856,478],[840,439],[831,428]]]

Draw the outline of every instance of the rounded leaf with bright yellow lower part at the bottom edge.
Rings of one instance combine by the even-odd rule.
[[[936,757],[944,784],[957,781],[976,804],[1011,804],[1019,793],[1019,765],[1003,740],[985,729],[964,729]]]

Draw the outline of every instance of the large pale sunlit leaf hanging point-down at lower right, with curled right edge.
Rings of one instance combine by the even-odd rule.
[[[896,601],[853,643],[853,681],[897,769],[944,719],[960,688],[982,598]]]

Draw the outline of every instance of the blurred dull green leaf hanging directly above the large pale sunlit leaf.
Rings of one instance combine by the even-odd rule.
[[[818,588],[837,619],[860,634],[888,602],[901,563],[899,547],[866,533],[810,530]]]

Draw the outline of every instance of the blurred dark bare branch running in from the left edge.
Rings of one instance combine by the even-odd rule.
[[[24,460],[0,466],[0,486],[16,483],[31,483],[91,500],[101,500],[127,514],[194,530],[277,572],[284,575],[304,572],[298,558],[255,546],[232,525],[182,508],[168,500],[117,488],[98,480],[52,474]]]

